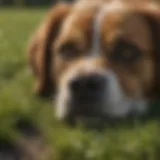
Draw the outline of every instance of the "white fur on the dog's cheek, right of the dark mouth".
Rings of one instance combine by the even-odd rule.
[[[118,77],[114,72],[106,74],[108,85],[106,86],[106,102],[104,103],[104,112],[110,116],[125,117],[131,111],[137,114],[146,111],[147,102],[141,97],[129,98],[125,95]],[[138,95],[139,93],[137,93]]]

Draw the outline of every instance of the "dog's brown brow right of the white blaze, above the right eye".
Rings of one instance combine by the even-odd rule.
[[[145,9],[153,12],[157,8],[154,7],[154,4],[149,3],[148,6],[144,6]],[[102,6],[94,20],[93,50],[100,50],[98,43],[101,40],[104,41],[104,44],[110,45],[121,37],[134,43],[143,51],[151,51],[151,31],[143,14],[139,14],[142,11],[135,5],[120,1],[113,1]]]

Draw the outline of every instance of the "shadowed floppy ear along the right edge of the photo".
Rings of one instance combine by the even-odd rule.
[[[160,99],[160,5],[146,5],[144,16],[151,31],[153,56],[155,61],[155,85],[153,88],[154,98]]]

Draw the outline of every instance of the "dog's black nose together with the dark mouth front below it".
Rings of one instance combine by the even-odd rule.
[[[97,114],[98,105],[102,102],[106,85],[106,78],[97,73],[74,78],[69,84],[73,114]]]

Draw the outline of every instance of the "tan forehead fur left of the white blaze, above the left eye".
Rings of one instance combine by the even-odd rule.
[[[91,21],[101,4],[94,0],[93,2],[82,1],[73,5],[71,12],[66,16],[60,28],[58,45],[68,40],[81,42],[86,40],[86,31],[92,30]]]

